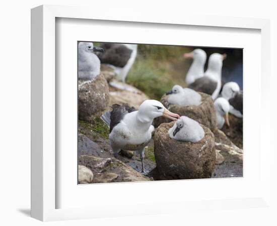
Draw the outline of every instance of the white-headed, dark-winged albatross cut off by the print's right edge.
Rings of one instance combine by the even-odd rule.
[[[243,117],[243,92],[240,90],[238,83],[227,82],[223,88],[221,95],[229,101],[230,113],[238,118]]]

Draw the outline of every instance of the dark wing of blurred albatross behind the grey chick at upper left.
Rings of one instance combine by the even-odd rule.
[[[122,44],[105,43],[101,48],[105,49],[104,53],[98,54],[101,63],[116,67],[124,67],[132,54],[132,50]]]

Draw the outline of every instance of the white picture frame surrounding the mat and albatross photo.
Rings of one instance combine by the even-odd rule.
[[[95,12],[91,14],[91,10],[85,7],[64,7],[64,6],[40,6],[32,9],[31,11],[31,216],[43,221],[49,220],[63,220],[63,219],[82,219],[82,218],[93,218],[93,217],[105,217],[105,216],[124,216],[124,215],[134,215],[134,214],[150,214],[150,213],[161,213],[161,212],[171,212],[171,211],[185,211],[186,209],[193,208],[195,211],[200,211],[197,207],[199,201],[203,202],[206,208],[212,208],[216,202],[220,202],[222,208],[249,208],[253,205],[264,207],[269,205],[270,200],[270,177],[265,175],[270,175],[270,160],[269,160],[269,143],[263,142],[263,150],[260,151],[260,146],[257,146],[257,151],[253,151],[253,156],[255,163],[258,163],[257,167],[257,179],[256,182],[259,186],[253,189],[253,192],[249,191],[249,196],[241,196],[234,194],[228,196],[225,199],[224,195],[211,196],[203,198],[198,197],[184,201],[180,198],[179,201],[172,197],[166,199],[167,201],[157,200],[154,203],[144,203],[144,200],[132,203],[132,205],[126,206],[126,202],[122,201],[121,205],[115,206],[112,204],[110,207],[105,207],[105,211],[99,205],[92,206],[82,206],[75,205],[72,206],[68,204],[59,206],[57,204],[58,196],[61,195],[61,191],[57,190],[56,184],[60,180],[60,176],[57,176],[57,169],[59,168],[59,162],[57,162],[56,148],[56,94],[59,92],[59,87],[56,87],[55,73],[57,72],[56,63],[56,18],[69,18],[69,19],[86,19],[86,20],[96,20],[96,21],[107,21],[108,22],[118,22],[118,23],[141,23],[140,25],[147,26],[147,23],[152,25],[165,26],[171,29],[174,26],[179,26],[176,29],[181,29],[182,26],[191,26],[198,28],[205,28],[206,31],[220,28],[225,28],[226,31],[233,29],[236,32],[243,31],[243,29],[250,29],[257,31],[260,38],[260,48],[257,51],[260,55],[259,65],[257,67],[260,71],[256,71],[257,79],[261,79],[261,89],[258,89],[256,96],[258,98],[259,106],[262,107],[263,111],[259,111],[263,116],[269,115],[269,98],[268,92],[265,87],[269,85],[269,21],[264,19],[245,19],[245,18],[230,18],[230,17],[196,17],[193,15],[179,17],[164,18],[163,15],[157,13],[155,19],[147,15],[142,15],[140,17],[134,16],[131,13],[117,14],[116,12],[110,13],[108,16],[103,15],[100,12]],[[82,22],[81,22],[82,23]],[[241,30],[240,30],[241,29]],[[68,38],[69,39],[69,38]],[[82,39],[81,39],[82,40]],[[84,40],[84,39],[83,39]],[[94,40],[92,40],[94,41]],[[107,41],[107,40],[96,40],[96,41]],[[144,43],[144,40],[138,40]],[[249,41],[250,42],[250,41]],[[161,41],[161,43],[163,43]],[[197,44],[197,43],[196,43]],[[196,45],[195,44],[195,45]],[[198,43],[201,45],[201,43]],[[216,45],[216,44],[214,44]],[[77,44],[76,44],[77,46]],[[226,46],[221,46],[226,47]],[[247,55],[246,55],[247,56]],[[245,57],[245,56],[244,56]],[[245,60],[245,59],[244,59]],[[76,61],[77,62],[77,61]],[[77,70],[76,70],[77,71]],[[244,68],[245,72],[245,68]],[[250,71],[249,71],[250,72]],[[77,76],[77,75],[76,75]],[[258,80],[259,81],[259,80]],[[247,82],[247,81],[246,81]],[[245,83],[245,78],[244,78]],[[256,84],[256,83],[255,83]],[[259,82],[257,83],[259,84]],[[76,85],[77,87],[77,85]],[[250,90],[251,87],[249,87]],[[247,89],[247,88],[246,88]],[[244,89],[245,91],[245,89]],[[249,97],[245,97],[251,103]],[[263,101],[261,101],[263,99]],[[252,100],[253,101],[253,100]],[[249,104],[251,105],[251,104]],[[251,106],[249,106],[251,108]],[[250,116],[249,116],[250,117]],[[261,117],[263,120],[258,121],[259,131],[269,131],[269,118]],[[249,118],[250,120],[250,118]],[[248,122],[245,122],[245,125]],[[77,128],[77,126],[76,126]],[[76,129],[74,128],[74,129]],[[268,132],[269,133],[269,132]],[[260,136],[259,136],[260,135]],[[266,139],[269,134],[260,133],[256,135],[259,138],[258,144]],[[75,147],[75,146],[74,146]],[[75,147],[76,148],[76,147]],[[76,149],[77,152],[77,149]],[[245,158],[250,158],[249,150],[247,154],[246,146]],[[256,156],[256,158],[255,158]],[[258,158],[260,156],[260,159]],[[66,160],[65,160],[66,161]],[[69,158],[68,158],[68,161]],[[63,164],[64,165],[64,164]],[[246,164],[246,168],[248,165]],[[250,167],[250,166],[249,166]],[[73,170],[74,173],[74,170]],[[77,172],[75,172],[77,174]],[[98,190],[110,190],[112,189],[144,189],[148,186],[148,189],[159,189],[159,187],[164,186],[167,189],[176,188],[176,193],[178,187],[187,186],[187,189],[195,189],[195,187],[208,185],[213,181],[210,189],[214,186],[240,186],[243,183],[248,183],[247,179],[251,177],[250,174],[246,175],[241,180],[234,179],[215,179],[215,180],[193,180],[189,184],[186,181],[159,181],[156,182],[146,182],[146,183],[121,183],[121,184],[99,184],[99,185],[72,185],[78,186],[76,192],[87,192],[88,189],[98,189]],[[74,177],[73,177],[74,178]],[[77,177],[74,178],[77,181]],[[255,178],[250,178],[252,183],[255,183]],[[220,182],[224,180],[224,182]],[[246,181],[246,182],[243,182]],[[68,182],[71,183],[71,182]],[[224,185],[225,184],[225,185]],[[64,184],[65,186],[66,184]],[[151,185],[152,188],[149,187]],[[252,185],[252,184],[251,184]],[[67,185],[66,185],[67,186]],[[70,186],[70,185],[68,185]],[[102,187],[101,187],[102,186]],[[113,187],[111,187],[113,186]],[[250,186],[250,185],[249,185]],[[68,188],[69,189],[69,188]],[[73,191],[73,190],[70,190]],[[195,191],[196,192],[196,191]],[[63,193],[62,193],[63,195]],[[166,194],[165,194],[166,195]],[[65,198],[70,198],[65,196]],[[192,197],[193,198],[193,197]],[[72,197],[74,199],[74,197]],[[70,201],[70,200],[69,200]],[[95,202],[97,200],[95,199]],[[75,203],[75,202],[73,202]],[[59,206],[59,208],[57,208]],[[63,207],[65,206],[65,207]],[[124,211],[123,211],[124,210]]]

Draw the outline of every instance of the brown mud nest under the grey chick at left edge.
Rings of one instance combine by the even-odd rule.
[[[98,118],[109,103],[109,86],[104,75],[100,73],[95,79],[79,80],[79,119],[91,122]]]

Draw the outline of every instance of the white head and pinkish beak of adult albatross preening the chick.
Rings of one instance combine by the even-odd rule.
[[[137,119],[142,123],[150,123],[160,116],[174,121],[180,118],[178,114],[170,112],[161,102],[154,99],[145,100],[138,108]]]

